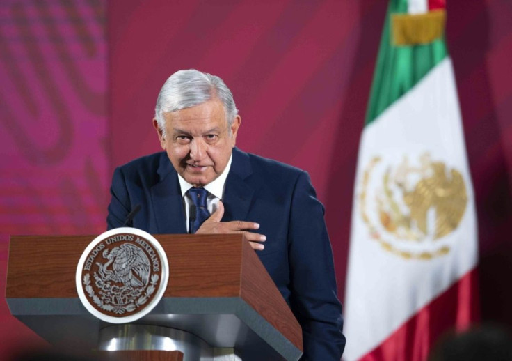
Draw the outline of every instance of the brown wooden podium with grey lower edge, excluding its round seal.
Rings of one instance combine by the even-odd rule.
[[[95,236],[11,236],[6,287],[11,314],[58,348],[124,355],[138,350],[131,360],[179,350],[176,344],[187,337],[203,349],[200,357],[198,350],[182,351],[184,361],[231,360],[222,356],[226,349],[243,361],[300,358],[301,327],[243,236],[154,237],[169,261],[163,298],[138,321],[112,325],[83,307],[75,286],[80,256]]]

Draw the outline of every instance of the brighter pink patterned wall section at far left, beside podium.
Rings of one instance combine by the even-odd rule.
[[[9,235],[105,228],[105,13],[104,1],[0,1],[0,360],[43,344],[6,305]]]

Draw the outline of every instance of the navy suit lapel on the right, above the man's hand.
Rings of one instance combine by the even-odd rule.
[[[245,180],[252,173],[247,153],[233,148],[233,160],[223,197],[225,211],[222,222],[246,220],[255,190]]]

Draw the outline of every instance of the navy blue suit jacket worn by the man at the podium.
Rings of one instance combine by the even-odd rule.
[[[177,172],[165,152],[115,169],[107,223],[121,226],[137,204],[133,224],[149,233],[186,233]],[[343,353],[342,308],[333,254],[305,171],[233,148],[223,198],[223,222],[257,222],[266,236],[256,252],[303,329],[301,360],[338,361]]]

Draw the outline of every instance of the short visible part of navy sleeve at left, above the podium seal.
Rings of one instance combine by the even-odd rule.
[[[131,208],[125,176],[120,168],[114,171],[110,193],[109,215],[106,217],[107,230],[122,226]]]

